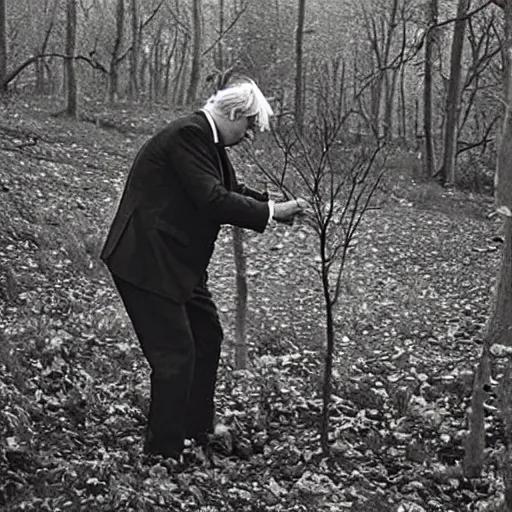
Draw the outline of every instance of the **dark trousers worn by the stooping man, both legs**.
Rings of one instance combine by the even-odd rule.
[[[185,438],[213,430],[223,334],[206,276],[185,304],[113,278],[151,367],[145,450],[177,457]]]

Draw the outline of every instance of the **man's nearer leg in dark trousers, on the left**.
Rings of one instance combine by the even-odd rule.
[[[114,276],[151,366],[151,402],[145,450],[178,457],[194,363],[194,339],[184,305]]]

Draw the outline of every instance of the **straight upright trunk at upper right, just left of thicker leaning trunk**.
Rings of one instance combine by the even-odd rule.
[[[435,174],[434,139],[432,135],[432,55],[436,41],[435,28],[438,17],[438,0],[430,0],[427,25],[430,32],[425,41],[425,86],[423,89],[423,130],[425,134],[425,173]]]

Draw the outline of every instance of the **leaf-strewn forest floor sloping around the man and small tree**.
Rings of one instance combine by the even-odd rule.
[[[148,367],[97,254],[137,148],[175,113],[83,108],[77,122],[49,100],[0,107],[0,509],[495,510],[493,390],[485,474],[460,470],[499,261],[489,198],[412,182],[410,158],[389,169],[336,309],[329,458],[315,238],[301,222],[247,235],[250,364],[234,370],[224,228],[209,272],[225,328],[219,419],[252,445],[169,472],[141,455]]]

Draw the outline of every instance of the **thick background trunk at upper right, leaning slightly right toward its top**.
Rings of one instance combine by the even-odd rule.
[[[464,46],[464,32],[467,20],[464,19],[470,0],[459,0],[457,18],[453,29],[453,42],[450,58],[450,81],[446,98],[446,126],[444,137],[444,160],[442,179],[444,185],[455,185],[457,180],[456,158],[458,120],[460,112],[461,59]]]

